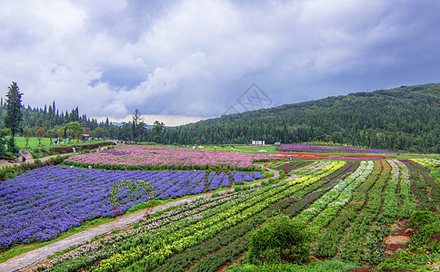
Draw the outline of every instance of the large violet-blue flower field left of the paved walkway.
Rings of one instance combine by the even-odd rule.
[[[15,243],[46,241],[86,220],[114,217],[110,192],[119,180],[145,180],[155,199],[175,199],[201,193],[205,172],[83,170],[58,166],[30,170],[0,183],[0,248]],[[235,183],[262,179],[261,173],[235,172]],[[209,175],[209,189],[229,186],[225,173]],[[125,187],[117,195],[119,210],[148,200],[144,188],[132,193]]]

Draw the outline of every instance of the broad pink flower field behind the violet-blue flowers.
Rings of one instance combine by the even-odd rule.
[[[264,154],[200,151],[182,148],[119,145],[115,149],[75,155],[67,164],[132,166],[155,169],[207,169],[222,165],[235,169],[254,168]]]

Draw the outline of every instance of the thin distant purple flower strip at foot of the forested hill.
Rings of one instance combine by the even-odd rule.
[[[341,153],[395,153],[392,151],[378,151],[369,149],[360,149],[346,146],[320,146],[306,144],[282,144],[276,148],[278,151],[308,151],[308,152],[341,152]]]

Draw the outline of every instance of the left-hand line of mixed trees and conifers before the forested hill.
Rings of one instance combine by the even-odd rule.
[[[114,124],[106,118],[97,121],[80,114],[78,107],[71,112],[60,111],[55,104],[44,108],[31,108],[22,105],[23,93],[17,83],[8,86],[6,99],[0,99],[0,158],[12,157],[18,152],[15,136],[25,137],[26,146],[31,137],[36,137],[41,145],[42,138],[81,140],[87,138],[118,139],[122,141],[159,141],[164,123],[155,121],[152,130],[142,121],[141,112],[134,112],[133,120]],[[24,147],[21,147],[24,148]],[[7,155],[7,156],[6,156]]]

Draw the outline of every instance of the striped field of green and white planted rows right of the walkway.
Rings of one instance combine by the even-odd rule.
[[[315,230],[315,257],[377,264],[385,259],[385,238],[396,220],[439,208],[440,184],[422,166],[435,162],[416,161],[290,162],[288,178],[274,185],[183,205],[37,269],[216,271],[245,252],[255,226],[280,213]],[[418,193],[417,186],[429,190]]]

